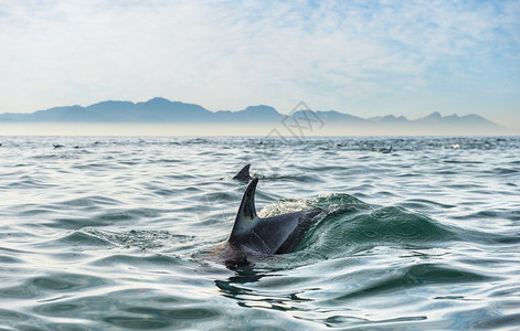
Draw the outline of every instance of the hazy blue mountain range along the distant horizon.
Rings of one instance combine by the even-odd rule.
[[[202,106],[152,98],[146,103],[103,102],[87,107],[67,106],[39,110],[32,114],[0,114],[0,122],[177,122],[177,124],[279,124],[287,117],[275,108],[259,105],[243,110],[211,111]],[[442,116],[433,113],[426,117],[410,120],[404,116],[361,118],[336,110],[298,110],[288,117],[295,121],[311,120],[319,125],[355,128],[395,128],[403,132],[427,135],[432,128],[447,129],[464,127],[475,132],[486,130],[501,132],[505,127],[478,115]],[[426,130],[426,131],[425,131]],[[399,132],[399,131],[397,131]]]

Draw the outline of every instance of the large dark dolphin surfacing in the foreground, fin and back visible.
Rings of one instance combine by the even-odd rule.
[[[294,252],[305,233],[323,212],[322,209],[261,218],[255,209],[258,179],[247,185],[230,237],[224,243],[223,258],[227,266],[241,266],[252,258]]]

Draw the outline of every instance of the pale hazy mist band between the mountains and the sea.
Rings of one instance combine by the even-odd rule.
[[[519,136],[520,131],[502,132],[443,129],[431,127],[410,128],[406,126],[344,126],[326,124],[322,128],[306,130],[303,136],[288,131],[282,124],[241,125],[241,124],[77,124],[77,122],[0,122],[0,137],[9,136],[243,136],[274,139],[305,139],[309,137],[418,137],[418,136]],[[0,141],[1,142],[1,141]]]

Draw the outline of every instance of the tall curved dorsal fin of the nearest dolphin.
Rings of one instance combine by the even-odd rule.
[[[241,206],[236,213],[235,224],[233,225],[233,231],[230,235],[230,242],[233,242],[233,238],[251,231],[259,220],[258,215],[256,215],[255,209],[255,191],[258,179],[255,178],[247,185],[247,189],[245,189],[244,196],[242,196]]]

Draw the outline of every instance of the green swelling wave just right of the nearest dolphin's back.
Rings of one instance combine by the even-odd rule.
[[[373,249],[382,247],[410,252],[444,248],[464,242],[495,245],[520,241],[511,234],[490,234],[444,224],[401,206],[370,205],[349,194],[330,194],[312,200],[278,200],[262,210],[261,216],[314,207],[326,212],[316,216],[314,225],[295,252],[286,254],[282,265],[272,267],[294,267],[301,265],[301,261],[309,265],[359,254],[374,254]],[[268,260],[268,264],[272,261]]]

